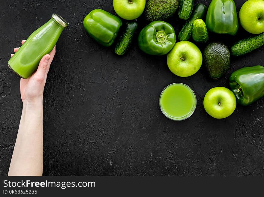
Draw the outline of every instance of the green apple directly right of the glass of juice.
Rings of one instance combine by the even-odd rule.
[[[210,116],[226,118],[235,111],[235,95],[224,87],[212,88],[205,94],[203,106]]]

